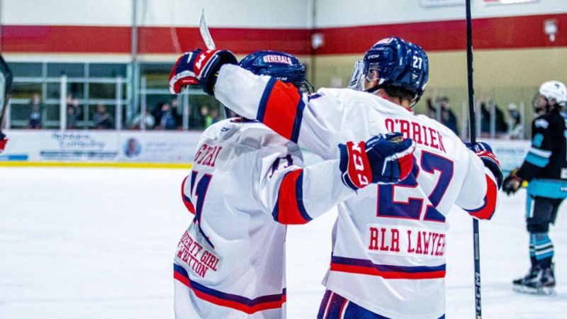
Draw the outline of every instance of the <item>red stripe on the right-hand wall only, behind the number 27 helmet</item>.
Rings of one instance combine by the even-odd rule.
[[[565,47],[567,32],[556,35],[555,42],[544,34],[544,21],[556,20],[558,26],[567,25],[567,14],[545,16],[515,16],[473,20],[473,45],[478,49],[512,49],[528,47]],[[366,52],[378,40],[396,35],[421,45],[426,51],[466,50],[466,23],[438,21],[359,26],[350,28],[322,28],[325,44],[316,54],[337,55]]]

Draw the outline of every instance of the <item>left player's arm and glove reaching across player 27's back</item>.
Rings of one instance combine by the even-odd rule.
[[[283,224],[304,224],[369,184],[396,184],[410,174],[415,143],[400,134],[339,145],[340,159],[303,167],[301,159],[266,147],[260,152],[257,196]],[[265,155],[265,156],[264,156]]]

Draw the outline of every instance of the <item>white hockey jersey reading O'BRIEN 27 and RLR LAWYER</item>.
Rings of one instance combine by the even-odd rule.
[[[437,319],[445,310],[445,216],[456,204],[490,219],[493,174],[448,128],[374,94],[320,89],[311,96],[240,67],[220,69],[215,96],[323,159],[337,144],[400,132],[417,144],[415,166],[399,185],[372,185],[339,204],[328,289],[393,319]]]

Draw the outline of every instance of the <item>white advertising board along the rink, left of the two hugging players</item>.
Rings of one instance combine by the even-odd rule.
[[[200,132],[11,130],[0,161],[190,163]]]

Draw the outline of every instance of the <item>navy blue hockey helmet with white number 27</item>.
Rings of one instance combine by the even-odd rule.
[[[378,85],[366,91],[397,86],[412,91],[415,103],[427,86],[429,60],[419,45],[396,37],[386,38],[366,51],[364,59],[354,65],[349,88],[364,91],[364,78],[378,80]]]

